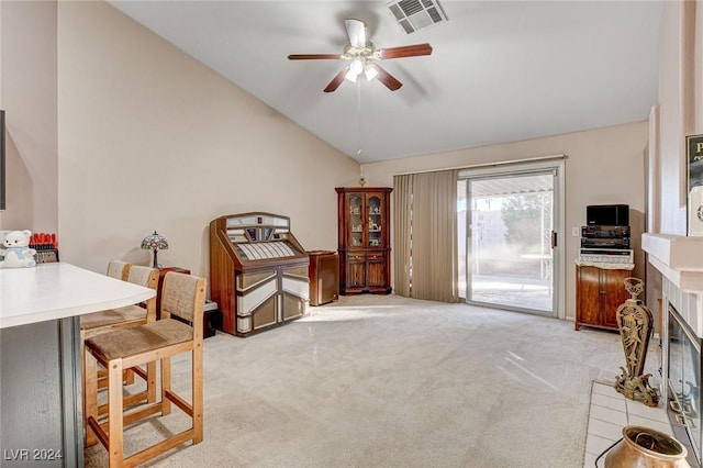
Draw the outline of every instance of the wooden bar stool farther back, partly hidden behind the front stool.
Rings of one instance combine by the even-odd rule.
[[[120,265],[122,264],[122,265]],[[126,276],[124,272],[126,271]],[[136,265],[130,265],[124,261],[112,260],[110,261],[110,266],[108,267],[109,276],[113,276],[115,278],[124,278],[124,280],[133,282],[135,285],[144,286],[146,288],[156,289],[158,285],[158,270],[156,268],[150,267],[142,267]],[[156,296],[144,303],[145,307],[141,304],[127,305],[124,308],[112,309],[107,311],[94,312],[91,314],[82,315],[80,317],[80,343],[81,343],[81,356],[85,355],[85,343],[86,339],[99,335],[101,333],[111,332],[113,330],[123,328],[127,326],[136,326],[143,325],[148,322],[154,322],[156,320]],[[85,363],[83,363],[83,414],[86,414],[85,408],[85,394],[86,394],[86,372],[85,372]],[[137,374],[146,381],[146,390],[129,395],[125,399],[125,405],[132,405],[138,403],[141,401],[154,402],[156,401],[156,383],[154,379],[156,378],[156,366],[154,365],[152,369],[147,368],[144,371],[141,368],[131,369],[129,372],[125,372],[124,381],[126,383],[134,382],[134,374]],[[150,377],[149,377],[150,374]],[[100,370],[100,388],[107,387],[107,370]],[[108,411],[107,405],[100,406],[100,413],[105,413]]]

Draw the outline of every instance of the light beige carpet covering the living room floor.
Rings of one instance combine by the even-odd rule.
[[[258,335],[205,339],[204,441],[147,466],[580,468],[591,382],[623,361],[615,332],[343,297]],[[178,359],[179,388],[188,375]],[[178,413],[130,430],[127,452]],[[88,467],[105,459],[102,446],[86,452]]]

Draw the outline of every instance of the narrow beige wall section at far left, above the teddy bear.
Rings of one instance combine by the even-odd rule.
[[[0,1],[7,210],[0,230],[58,231],[56,2]]]

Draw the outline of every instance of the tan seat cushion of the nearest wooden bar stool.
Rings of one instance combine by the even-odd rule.
[[[109,360],[134,356],[178,343],[192,342],[193,328],[172,319],[163,319],[145,325],[120,328],[86,341],[86,346],[98,349]]]

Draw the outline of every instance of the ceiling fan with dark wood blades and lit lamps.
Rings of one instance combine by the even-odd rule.
[[[352,82],[356,82],[361,74],[364,74],[368,80],[377,78],[386,85],[388,89],[395,91],[400,89],[403,83],[381,68],[377,62],[389,58],[415,57],[432,54],[432,46],[426,43],[401,47],[376,48],[373,43],[366,40],[366,24],[362,21],[348,19],[344,21],[344,24],[347,30],[347,35],[349,36],[349,43],[344,47],[343,54],[292,54],[288,56],[290,60],[337,59],[347,62],[344,68],[330,81],[324,89],[325,92],[335,91],[345,78]]]

